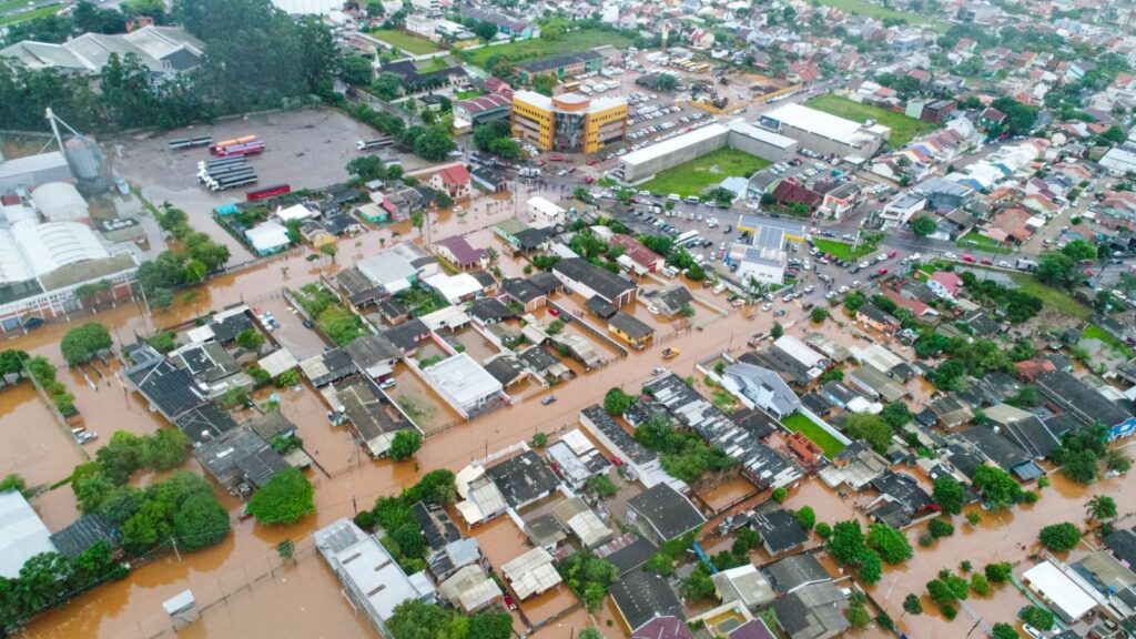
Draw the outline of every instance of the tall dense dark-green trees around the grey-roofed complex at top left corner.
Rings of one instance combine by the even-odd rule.
[[[51,16],[14,25],[8,39],[62,42],[83,31],[125,31],[118,11],[84,5],[72,19]],[[158,11],[150,0],[137,7]],[[43,111],[51,106],[85,131],[168,128],[333,94],[339,53],[331,31],[316,17],[293,19],[270,0],[177,0],[173,16],[206,43],[206,58],[192,75],[151,83],[133,55],[112,53],[95,84],[80,74],[0,61],[0,94],[8,98],[0,100],[0,121],[10,128],[44,131]]]

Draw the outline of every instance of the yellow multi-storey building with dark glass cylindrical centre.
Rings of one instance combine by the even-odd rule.
[[[627,99],[518,91],[512,96],[512,133],[546,151],[592,153],[624,140]]]

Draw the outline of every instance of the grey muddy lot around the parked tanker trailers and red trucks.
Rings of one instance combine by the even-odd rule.
[[[356,141],[377,133],[350,117],[331,109],[273,113],[228,119],[212,125],[179,128],[165,133],[144,133],[105,142],[107,160],[114,172],[142,190],[154,204],[169,201],[190,215],[194,226],[233,254],[233,262],[251,257],[248,249],[214,223],[214,207],[244,200],[245,189],[211,193],[198,184],[197,164],[208,159],[206,149],[172,151],[168,140],[190,135],[212,135],[215,141],[257,135],[267,149],[249,161],[260,179],[258,185],[286,183],[292,189],[312,189],[346,180],[344,168],[358,152]],[[406,171],[428,163],[416,156],[401,156]]]

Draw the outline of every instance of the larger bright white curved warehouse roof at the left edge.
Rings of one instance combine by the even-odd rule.
[[[20,222],[10,233],[35,277],[77,262],[110,257],[94,232],[77,222]]]

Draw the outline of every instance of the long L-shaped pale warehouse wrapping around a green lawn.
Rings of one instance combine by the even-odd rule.
[[[790,160],[796,153],[795,140],[759,128],[738,118],[727,124],[709,124],[632,151],[619,161],[613,176],[628,184],[637,184],[660,172],[724,147],[732,147],[775,163]]]

